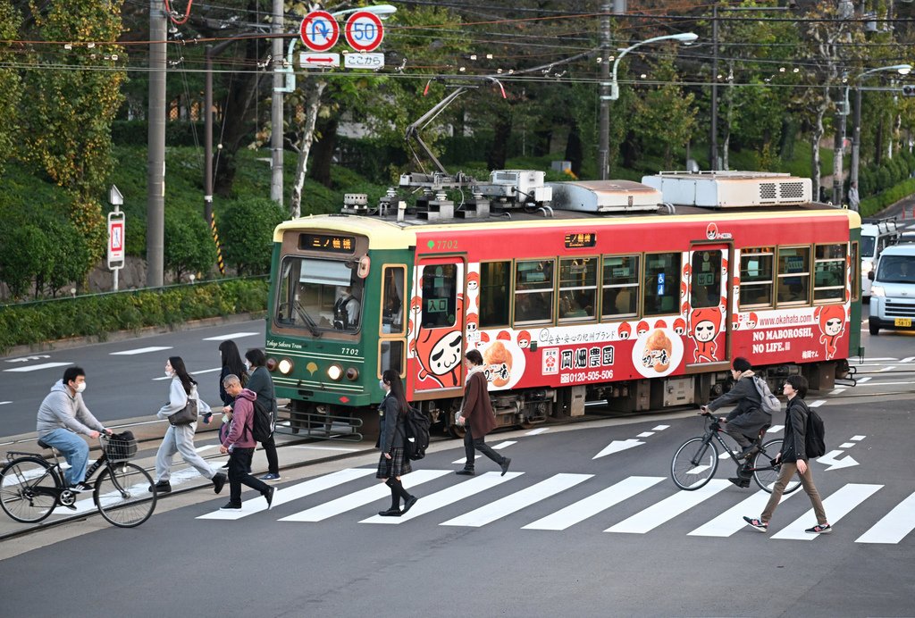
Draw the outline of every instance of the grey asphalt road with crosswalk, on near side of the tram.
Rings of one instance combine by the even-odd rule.
[[[4,613],[911,615],[915,419],[910,398],[862,405],[865,388],[808,398],[833,452],[813,463],[829,536],[802,532],[815,523],[802,491],[768,534],[742,526],[768,495],[728,484],[726,461],[707,491],[678,491],[670,458],[702,421],[656,415],[492,435],[512,458],[504,477],[485,459],[455,476],[463,453],[447,442],[404,476],[420,500],[402,519],[374,517],[388,500],[371,453],[285,475],[269,512],[246,492],[222,519],[225,496],[197,492],[134,530],[33,535],[15,542],[36,549],[0,561]],[[596,458],[614,442],[630,447]]]

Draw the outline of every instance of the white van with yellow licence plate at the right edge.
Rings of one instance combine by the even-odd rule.
[[[870,272],[870,334],[881,328],[910,329],[915,322],[915,245],[888,247]]]

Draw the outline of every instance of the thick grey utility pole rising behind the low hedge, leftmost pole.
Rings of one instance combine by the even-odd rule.
[[[166,19],[161,0],[149,0],[149,110],[146,120],[146,285],[164,282],[166,193]]]

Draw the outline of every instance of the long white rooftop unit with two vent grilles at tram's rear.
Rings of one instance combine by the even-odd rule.
[[[813,183],[779,172],[661,172],[641,181],[674,206],[747,208],[786,206],[813,201]]]

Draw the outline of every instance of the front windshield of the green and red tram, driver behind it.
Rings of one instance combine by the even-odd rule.
[[[359,331],[363,280],[358,267],[355,261],[286,256],[277,281],[275,323],[315,336]]]

